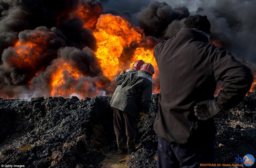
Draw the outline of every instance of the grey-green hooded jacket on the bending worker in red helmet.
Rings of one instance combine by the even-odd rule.
[[[116,84],[120,85],[120,91],[117,92],[111,107],[122,110],[134,118],[138,117],[139,112],[147,114],[150,110],[152,82],[139,75],[141,72],[143,71],[129,72],[115,77]]]

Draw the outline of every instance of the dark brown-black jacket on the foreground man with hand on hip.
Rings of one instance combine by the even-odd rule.
[[[156,134],[178,144],[214,138],[213,118],[198,120],[193,107],[214,99],[217,81],[224,82],[216,98],[218,107],[233,107],[250,89],[251,70],[190,28],[182,28],[176,37],[155,46],[154,56],[161,90],[154,123]]]

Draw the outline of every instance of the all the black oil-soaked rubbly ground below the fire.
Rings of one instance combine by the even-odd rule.
[[[158,96],[152,95],[150,118],[137,123],[136,151],[120,156],[116,153],[111,96],[0,99],[0,164],[31,168],[156,167],[158,136],[153,123]],[[214,118],[216,163],[232,165],[238,154],[256,157],[255,92]]]

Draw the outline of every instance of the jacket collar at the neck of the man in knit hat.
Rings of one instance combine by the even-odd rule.
[[[179,36],[179,35],[190,36],[192,38],[195,38],[198,41],[208,42],[208,38],[206,36],[197,32],[196,30],[193,30],[193,29],[187,28],[187,27],[181,28],[176,36]]]

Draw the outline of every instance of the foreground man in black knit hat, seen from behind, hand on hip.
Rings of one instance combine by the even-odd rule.
[[[250,89],[249,68],[209,42],[206,16],[189,16],[177,35],[154,48],[159,68],[158,167],[200,167],[213,163],[213,116],[239,103]],[[214,99],[216,82],[222,91]]]

